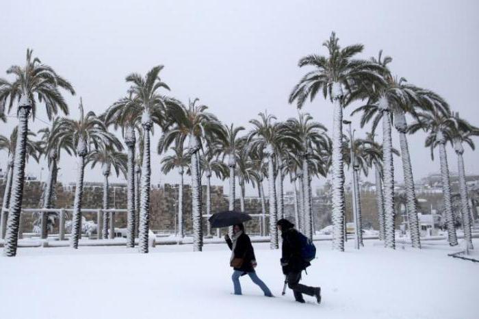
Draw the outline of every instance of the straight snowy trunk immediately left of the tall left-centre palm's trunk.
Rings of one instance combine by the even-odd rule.
[[[127,247],[135,246],[135,129],[127,127],[125,144],[128,147],[127,162]]]

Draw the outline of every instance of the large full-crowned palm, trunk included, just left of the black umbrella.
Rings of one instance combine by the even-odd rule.
[[[201,138],[205,135],[219,136],[221,125],[216,116],[205,112],[206,105],[197,105],[198,99],[190,101],[188,107],[171,105],[168,108],[169,117],[174,125],[161,137],[158,148],[167,149],[172,142],[183,144],[188,138],[187,151],[190,154],[190,170],[192,175],[192,213],[193,213],[193,250],[203,249],[203,220],[202,220],[202,195],[200,154],[202,148]]]

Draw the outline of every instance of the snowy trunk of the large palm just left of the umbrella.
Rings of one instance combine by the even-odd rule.
[[[201,216],[201,185],[198,178],[198,151],[191,157],[192,172],[192,212],[193,212],[193,251],[203,250],[202,216]]]

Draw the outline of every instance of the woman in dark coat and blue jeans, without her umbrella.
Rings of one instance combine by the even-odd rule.
[[[242,294],[239,277],[248,275],[253,283],[256,283],[267,297],[272,297],[272,293],[268,286],[256,275],[255,268],[256,257],[251,240],[246,233],[244,233],[244,225],[238,224],[233,226],[233,238],[229,235],[224,235],[226,244],[231,249],[230,266],[233,267],[233,288],[235,294]]]

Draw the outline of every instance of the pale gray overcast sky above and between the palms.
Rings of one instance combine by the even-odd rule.
[[[479,125],[474,95],[479,88],[478,1],[136,2],[3,1],[0,76],[6,77],[12,64],[23,65],[26,49],[34,49],[34,55],[75,86],[77,96],[66,99],[76,117],[80,96],[86,110],[103,112],[125,94],[126,75],[164,64],[161,78],[173,97],[186,103],[198,97],[224,123],[249,127],[248,120],[266,109],[280,120],[297,114],[287,103],[307,72],[297,62],[309,53],[326,54],[321,44],[334,30],[343,46],[364,44],[363,58],[383,49],[393,57],[393,73],[435,90]],[[318,96],[304,110],[332,129],[331,103]],[[346,110],[346,117],[351,111]],[[42,110],[31,129],[45,126],[40,119],[47,119]],[[352,120],[357,123],[359,116]],[[0,125],[0,134],[9,135],[16,118]],[[365,135],[361,129],[357,134]],[[158,139],[159,130],[153,150]],[[439,172],[439,160],[431,162],[424,148],[424,134],[409,136],[409,141],[415,178]],[[393,143],[399,148],[396,131]],[[450,148],[448,156],[456,170]],[[1,168],[5,159],[5,152],[0,153]],[[477,152],[467,149],[467,173],[479,173],[478,159]],[[177,181],[177,174],[161,175],[159,160],[153,154],[152,182]],[[75,163],[62,157],[61,181],[74,181]],[[38,173],[38,165],[29,163],[27,173]],[[395,174],[402,183],[399,158]],[[85,180],[101,181],[100,170],[88,169]],[[313,180],[313,185],[320,183]]]

